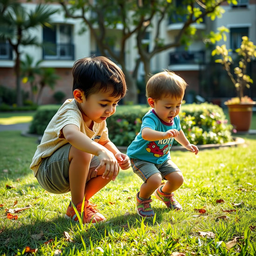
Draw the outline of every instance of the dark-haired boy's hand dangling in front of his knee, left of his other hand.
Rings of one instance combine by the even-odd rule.
[[[103,179],[109,179],[112,176],[112,180],[115,181],[116,176],[119,172],[119,166],[117,164],[117,160],[115,156],[108,150],[102,150],[99,155],[100,165],[96,168],[96,170],[100,170],[101,168],[105,168],[105,171],[102,175]]]

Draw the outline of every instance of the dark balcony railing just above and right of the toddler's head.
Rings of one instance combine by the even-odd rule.
[[[179,64],[203,64],[204,51],[182,51],[170,53],[169,65]]]

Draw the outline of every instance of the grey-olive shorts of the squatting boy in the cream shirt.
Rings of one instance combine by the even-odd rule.
[[[71,145],[68,143],[57,149],[53,155],[45,158],[37,171],[36,178],[43,189],[54,194],[62,194],[70,191],[69,186],[69,161],[68,154]],[[90,179],[97,176],[95,168],[100,164],[97,156],[94,156],[87,176]]]

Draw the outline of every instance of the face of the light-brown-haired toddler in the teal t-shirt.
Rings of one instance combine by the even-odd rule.
[[[182,99],[183,95],[179,99],[172,96],[162,97],[159,100],[148,98],[148,103],[151,108],[154,108],[159,118],[165,122],[172,123],[175,116],[180,113]]]

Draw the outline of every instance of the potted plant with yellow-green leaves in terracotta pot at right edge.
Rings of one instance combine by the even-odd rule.
[[[212,51],[212,55],[219,54],[221,59],[216,62],[224,65],[225,70],[236,88],[237,97],[231,98],[224,102],[229,109],[229,119],[231,124],[237,131],[248,131],[252,117],[252,107],[256,104],[250,97],[244,95],[244,89],[249,88],[253,80],[247,73],[248,63],[256,58],[256,46],[249,41],[247,36],[242,37],[240,48],[236,49],[239,56],[239,66],[234,68],[234,74],[231,73],[230,66],[233,64],[232,57],[229,55],[231,49],[227,49],[226,45],[216,46]]]

